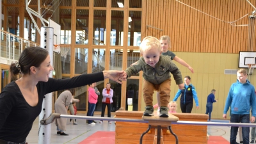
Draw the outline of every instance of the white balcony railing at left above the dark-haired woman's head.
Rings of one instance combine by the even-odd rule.
[[[0,31],[0,63],[2,64],[10,65],[12,61],[17,61],[22,49],[25,49],[26,47],[40,47],[40,45],[36,44],[35,42],[31,42],[20,36],[13,35],[7,31]]]

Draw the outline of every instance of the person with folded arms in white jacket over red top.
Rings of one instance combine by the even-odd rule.
[[[108,117],[111,117],[111,103],[113,103],[113,93],[114,91],[110,88],[111,84],[107,83],[106,88],[102,90],[102,109],[101,109],[101,117],[104,117],[106,106],[108,107]],[[103,121],[100,121],[100,124]],[[108,121],[111,124],[111,121]]]

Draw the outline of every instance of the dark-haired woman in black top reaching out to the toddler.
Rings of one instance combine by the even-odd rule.
[[[0,143],[25,143],[35,118],[41,112],[45,94],[106,78],[117,83],[126,79],[124,71],[116,70],[52,79],[49,78],[52,70],[48,51],[40,47],[24,49],[19,62],[10,65],[11,75],[22,74],[22,77],[7,84],[0,93]]]

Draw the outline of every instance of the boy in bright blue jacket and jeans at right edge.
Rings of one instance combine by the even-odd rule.
[[[230,107],[231,106],[231,107]],[[255,88],[247,79],[246,69],[241,68],[237,71],[237,82],[230,86],[223,118],[227,118],[227,111],[230,107],[232,123],[253,123],[256,116],[256,99]],[[250,110],[252,108],[252,117],[250,118]],[[236,135],[238,127],[230,129],[230,144],[236,144]],[[242,127],[243,143],[249,143],[250,127]]]

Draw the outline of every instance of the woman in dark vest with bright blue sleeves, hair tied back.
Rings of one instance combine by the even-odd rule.
[[[182,113],[191,113],[193,108],[193,99],[196,102],[196,109],[199,108],[198,98],[195,86],[190,84],[191,78],[189,76],[184,77],[185,86],[182,90],[178,90],[173,101],[175,102],[180,97],[180,109]]]

